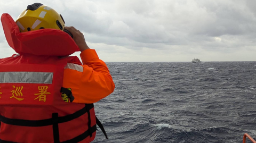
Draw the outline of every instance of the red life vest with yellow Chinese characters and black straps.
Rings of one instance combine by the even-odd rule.
[[[62,88],[64,68],[79,60],[59,56],[79,50],[74,40],[55,29],[20,33],[9,14],[1,21],[7,42],[20,55],[0,59],[0,142],[94,140],[99,121],[93,104],[61,97],[71,94]]]

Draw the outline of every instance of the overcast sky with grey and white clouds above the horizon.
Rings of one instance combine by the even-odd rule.
[[[256,61],[253,0],[45,0],[105,62]],[[17,20],[30,0],[0,0]],[[14,54],[0,29],[0,58]],[[74,55],[79,56],[79,52]]]

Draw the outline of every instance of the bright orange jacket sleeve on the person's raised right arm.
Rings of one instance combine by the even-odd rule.
[[[71,88],[73,103],[98,102],[114,91],[115,84],[94,49],[86,49],[80,56],[83,65],[68,63],[65,67],[63,87]]]

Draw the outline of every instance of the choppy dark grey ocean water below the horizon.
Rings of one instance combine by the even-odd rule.
[[[93,142],[256,139],[256,62],[107,65],[116,88],[94,106],[109,139],[99,129]]]

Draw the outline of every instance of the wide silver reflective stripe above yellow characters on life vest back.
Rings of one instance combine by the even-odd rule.
[[[53,72],[0,72],[0,83],[52,84]]]

